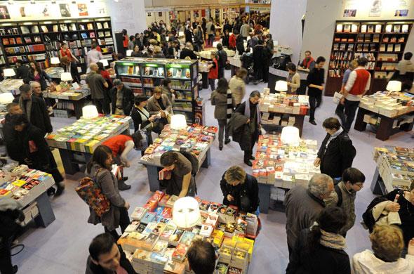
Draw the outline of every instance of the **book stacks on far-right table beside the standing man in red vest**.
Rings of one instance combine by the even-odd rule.
[[[378,91],[372,95],[363,96],[359,107],[386,117],[394,117],[414,111],[414,95],[403,92]]]

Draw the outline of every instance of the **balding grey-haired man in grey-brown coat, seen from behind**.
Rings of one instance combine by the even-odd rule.
[[[326,174],[314,174],[307,189],[296,185],[285,197],[286,234],[288,237],[289,256],[300,230],[312,226],[323,207],[324,199],[333,193],[333,181]]]

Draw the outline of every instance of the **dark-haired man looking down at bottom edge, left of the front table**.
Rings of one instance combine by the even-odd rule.
[[[89,245],[86,274],[128,273],[136,274],[126,259],[122,247],[116,245],[112,235],[103,233],[96,236]]]

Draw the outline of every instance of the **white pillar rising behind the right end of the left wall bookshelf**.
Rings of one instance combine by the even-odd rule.
[[[109,15],[112,18],[112,30],[128,31],[128,35],[143,32],[147,28],[145,22],[145,2],[142,0],[106,0]]]

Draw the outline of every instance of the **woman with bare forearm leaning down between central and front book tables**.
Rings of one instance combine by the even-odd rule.
[[[168,151],[161,155],[161,180],[166,181],[168,195],[178,197],[194,196],[195,181],[192,176],[192,163],[180,152]]]

